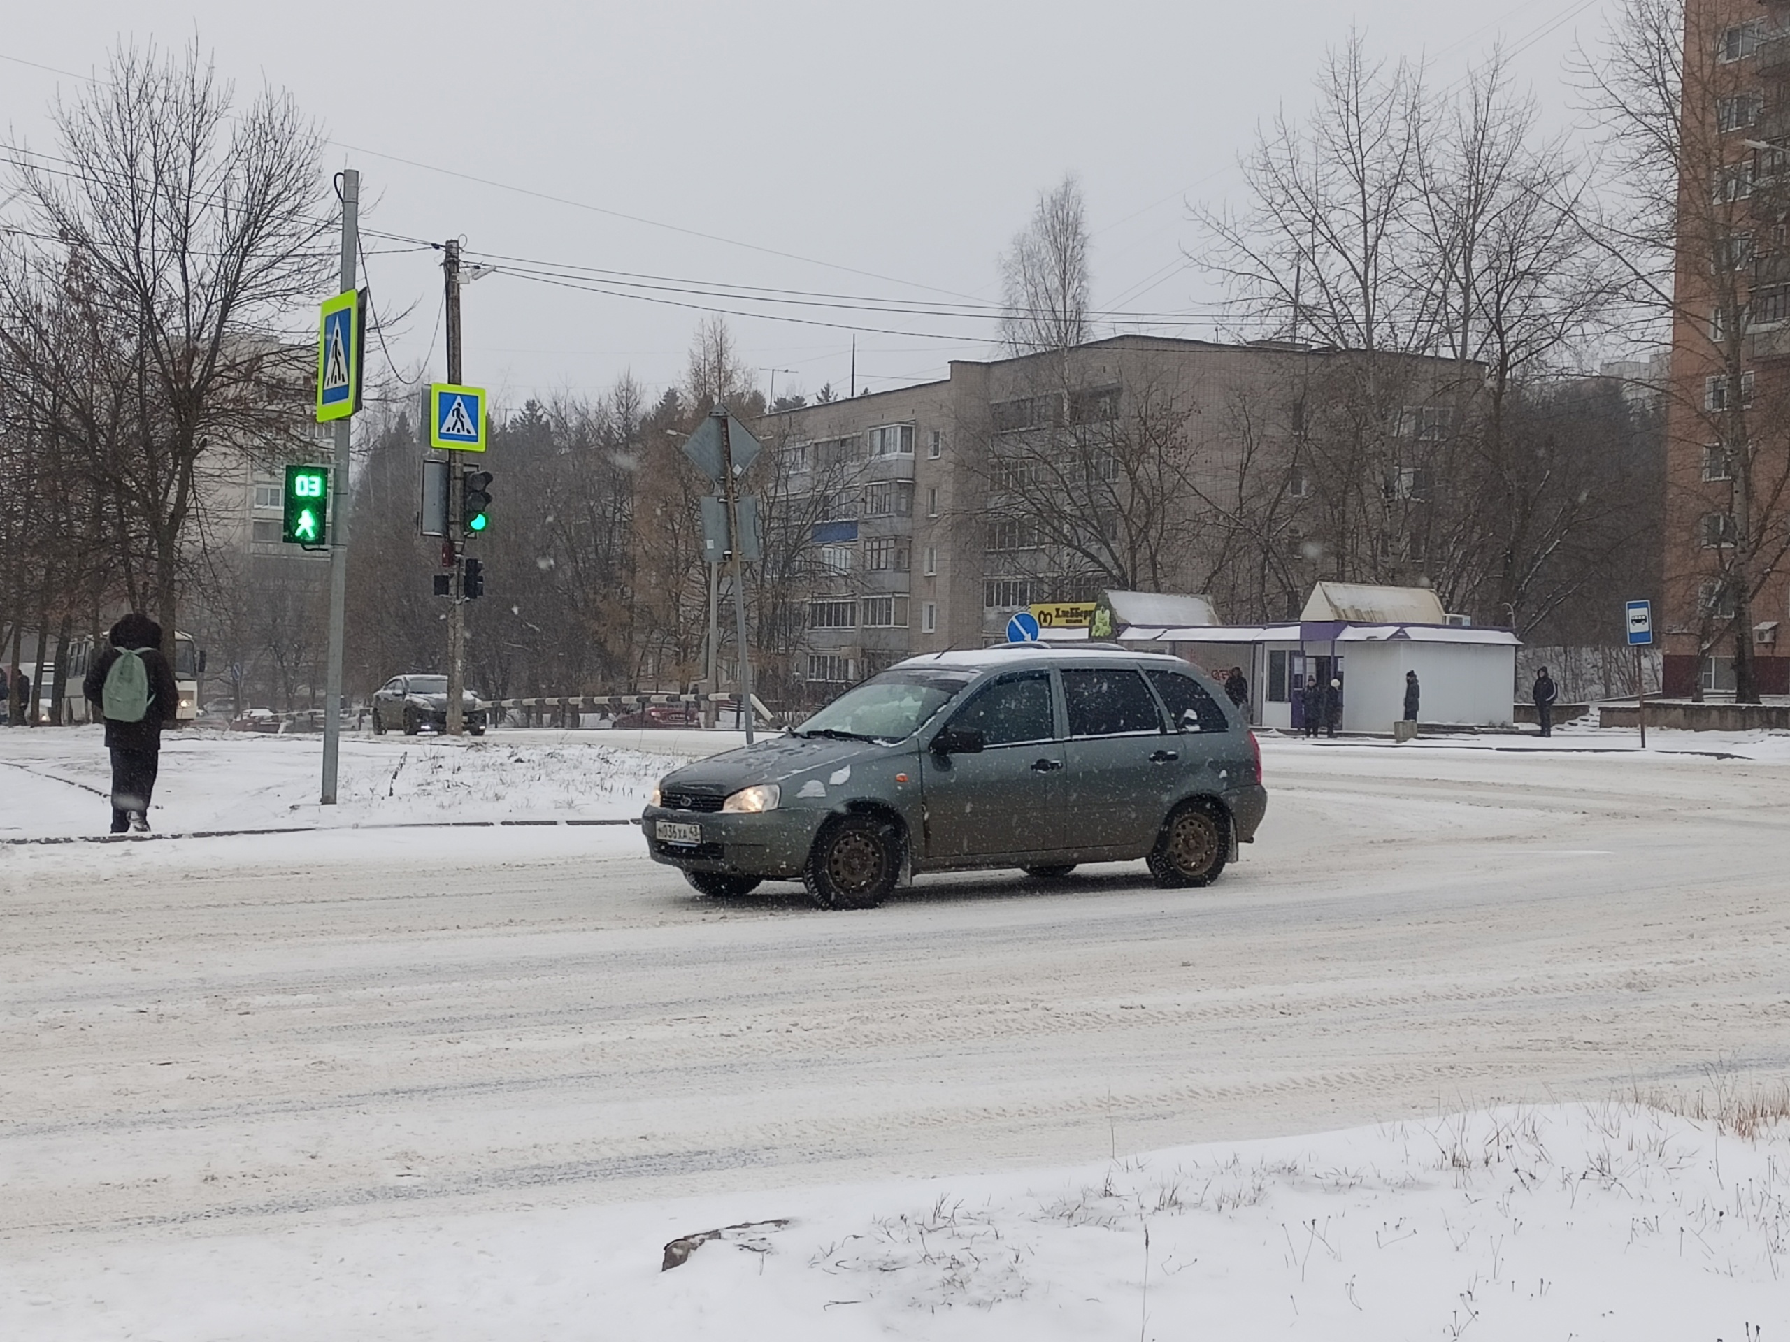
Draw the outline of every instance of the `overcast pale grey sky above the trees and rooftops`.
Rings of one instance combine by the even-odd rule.
[[[1095,306],[1205,315],[1215,292],[1185,259],[1199,243],[1189,202],[1237,197],[1239,150],[1276,107],[1308,106],[1351,21],[1441,82],[1502,39],[1566,123],[1563,59],[1595,43],[1613,4],[82,0],[11,7],[0,113],[52,149],[45,107],[77,86],[55,72],[102,68],[120,34],[197,34],[238,89],[265,79],[322,122],[329,166],[362,172],[371,229],[893,306],[992,302],[1038,190],[1074,170]],[[413,304],[394,354],[440,378],[439,254],[394,247],[369,240],[363,283],[381,308]],[[800,315],[884,327],[857,335],[872,390],[992,349],[981,319]],[[700,317],[498,274],[465,292],[467,381],[510,404],[598,392],[626,369],[659,390],[682,374]],[[779,369],[779,392],[845,388],[848,329],[730,320],[761,386]]]

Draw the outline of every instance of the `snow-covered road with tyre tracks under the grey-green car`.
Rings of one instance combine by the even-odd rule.
[[[7,846],[4,1258],[1790,1075],[1781,764],[1269,743],[1267,784],[1206,891],[863,914],[703,900],[632,827]]]

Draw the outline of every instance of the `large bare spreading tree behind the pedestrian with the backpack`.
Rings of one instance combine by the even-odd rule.
[[[120,537],[141,546],[143,603],[170,641],[199,458],[301,404],[277,331],[324,290],[329,261],[319,132],[272,89],[242,111],[233,100],[197,43],[118,47],[106,79],[52,113],[59,166],[20,152],[16,170],[47,238],[29,263],[81,270],[127,376],[129,433],[86,449],[122,508]]]

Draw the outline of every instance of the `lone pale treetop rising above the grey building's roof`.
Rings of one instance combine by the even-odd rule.
[[[1074,174],[1038,193],[1031,224],[1001,258],[1001,338],[1015,354],[1088,338],[1088,224]]]

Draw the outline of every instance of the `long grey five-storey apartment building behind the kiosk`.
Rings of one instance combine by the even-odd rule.
[[[1113,336],[766,415],[768,540],[807,555],[789,678],[825,698],[913,653],[1001,641],[1015,610],[1103,589],[1214,590],[1249,607],[1226,610],[1235,619],[1296,616],[1310,582],[1337,569],[1300,446],[1325,431],[1319,403],[1350,399],[1339,381],[1357,363],[1292,344]],[[1389,403],[1369,412],[1380,431],[1360,463],[1382,508],[1371,535],[1350,539],[1375,576],[1421,573],[1459,381],[1443,360],[1382,360]],[[1260,515],[1242,524],[1240,508]],[[1228,521],[1201,522],[1217,514]],[[1244,553],[1242,531],[1273,553]]]

